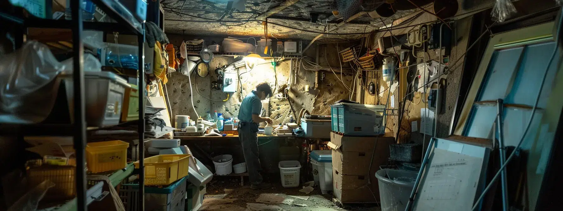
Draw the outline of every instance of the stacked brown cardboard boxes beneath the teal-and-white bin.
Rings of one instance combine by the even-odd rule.
[[[334,197],[341,203],[378,202],[376,172],[387,163],[389,145],[393,143],[394,137],[342,136],[331,132],[328,146],[332,148]]]

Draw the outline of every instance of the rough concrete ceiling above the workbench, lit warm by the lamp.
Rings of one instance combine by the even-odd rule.
[[[164,27],[166,33],[198,35],[198,36],[264,36],[262,21],[254,21],[268,8],[280,5],[284,0],[246,0],[245,11],[227,11],[227,3],[214,3],[205,0],[163,0]],[[183,9],[182,9],[183,8]],[[285,10],[270,17],[268,21],[284,26],[268,24],[268,36],[276,38],[312,39],[326,30],[326,24],[310,23],[310,12],[319,14],[319,20],[327,19],[336,10],[335,0],[301,0]],[[408,15],[415,10],[397,11],[395,15],[384,19],[386,24],[392,20]],[[211,19],[211,20],[209,20]],[[218,22],[213,20],[222,20]],[[197,22],[202,21],[202,22]],[[232,22],[245,21],[245,22]],[[330,21],[330,28],[334,28],[342,19]],[[368,15],[360,16],[349,23],[339,26],[330,33],[361,33],[370,32],[383,26],[381,20]],[[357,39],[361,35],[325,35],[323,38]]]

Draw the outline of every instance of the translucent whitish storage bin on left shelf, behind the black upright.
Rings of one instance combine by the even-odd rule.
[[[65,83],[66,98],[71,120],[74,119],[74,89],[72,75],[61,75]],[[86,81],[86,123],[88,126],[106,127],[119,124],[127,80],[106,71],[84,72]]]

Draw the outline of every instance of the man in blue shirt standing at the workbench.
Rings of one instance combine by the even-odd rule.
[[[262,102],[266,97],[272,96],[272,89],[267,83],[260,83],[256,90],[248,93],[239,110],[239,140],[243,146],[244,160],[246,161],[248,177],[253,189],[267,189],[272,187],[268,183],[262,182],[262,170],[260,159],[258,159],[258,123],[272,123],[269,117],[261,117]]]

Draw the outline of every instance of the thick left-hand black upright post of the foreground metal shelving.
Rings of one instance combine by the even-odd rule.
[[[76,155],[76,197],[77,209],[87,210],[86,204],[86,113],[84,109],[84,71],[82,71],[83,50],[82,43],[82,0],[70,1],[72,10],[72,38],[73,38],[73,89],[74,89],[74,150]]]

